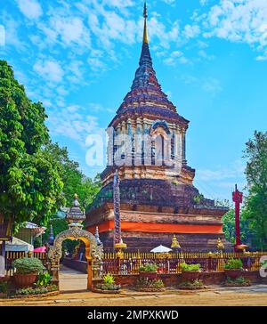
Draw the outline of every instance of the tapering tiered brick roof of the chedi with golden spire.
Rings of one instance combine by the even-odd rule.
[[[131,91],[126,94],[124,101],[117,109],[117,115],[113,118],[109,126],[114,126],[117,118],[127,115],[149,115],[162,117],[164,119],[173,119],[180,121],[184,126],[189,123],[188,120],[181,117],[173,104],[169,101],[166,93],[161,89],[158,83],[153,62],[150,55],[150,45],[147,30],[147,9],[144,6],[144,31],[142,40],[142,53],[139,61],[139,68],[135,72],[135,77]]]

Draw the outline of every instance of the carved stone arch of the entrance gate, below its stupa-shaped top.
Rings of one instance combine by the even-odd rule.
[[[101,260],[103,257],[103,246],[97,245],[92,233],[79,227],[72,227],[62,231],[54,239],[53,246],[48,251],[49,270],[53,276],[53,283],[59,286],[60,260],[62,256],[61,247],[65,239],[80,239],[85,243],[85,257],[87,260],[87,289],[91,290],[93,279],[101,278]]]

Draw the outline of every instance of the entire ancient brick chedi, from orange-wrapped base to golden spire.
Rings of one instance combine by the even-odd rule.
[[[128,250],[171,246],[174,234],[184,250],[214,250],[224,239],[222,216],[193,185],[186,161],[189,121],[180,116],[158,84],[150,56],[147,11],[139,68],[131,91],[109,124],[108,166],[103,186],[86,210],[86,229],[99,228],[104,248],[113,248],[113,178],[120,179],[122,238]]]

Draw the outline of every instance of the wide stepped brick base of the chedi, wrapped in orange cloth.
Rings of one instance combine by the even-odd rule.
[[[190,251],[215,251],[217,239],[225,242],[222,216],[227,210],[203,199],[194,204],[198,190],[186,184],[164,180],[123,180],[121,187],[121,228],[127,251],[150,251],[160,244],[170,247],[173,235]],[[86,229],[96,226],[106,249],[113,249],[114,212],[112,183],[102,188],[87,212]]]

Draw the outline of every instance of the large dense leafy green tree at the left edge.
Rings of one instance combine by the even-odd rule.
[[[64,204],[63,182],[52,155],[41,102],[30,101],[12,67],[0,61],[0,213],[15,223],[47,223]]]

